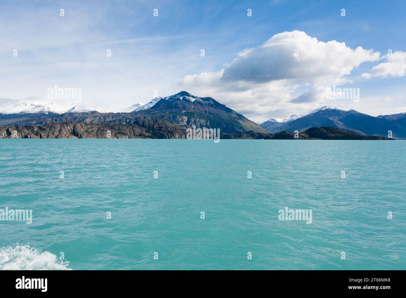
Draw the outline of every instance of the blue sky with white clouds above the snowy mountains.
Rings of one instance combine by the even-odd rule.
[[[154,90],[158,96],[186,90],[254,121],[322,105],[373,116],[406,112],[405,12],[404,1],[1,0],[0,103],[46,100],[57,85],[81,88],[83,101],[107,109],[147,103]],[[294,30],[303,34],[283,35]],[[282,34],[280,45],[261,47],[275,34]],[[311,38],[320,42],[313,52]],[[344,56],[339,43],[348,49]],[[280,52],[296,47],[305,58],[300,67]],[[351,52],[357,47],[359,55]],[[398,51],[392,62],[385,58],[389,49]],[[392,64],[362,77],[386,62]],[[315,64],[324,69],[312,73]],[[333,84],[360,88],[359,102],[326,100],[320,90]]]

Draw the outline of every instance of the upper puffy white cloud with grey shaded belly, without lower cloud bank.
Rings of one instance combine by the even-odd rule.
[[[337,41],[324,43],[302,31],[282,32],[257,48],[244,51],[224,70],[222,79],[257,83],[280,79],[335,81],[379,56],[379,52],[362,47],[351,49]]]

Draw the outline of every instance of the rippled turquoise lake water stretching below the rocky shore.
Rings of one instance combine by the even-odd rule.
[[[405,166],[406,141],[0,139],[0,209],[32,209],[0,269],[404,270]]]

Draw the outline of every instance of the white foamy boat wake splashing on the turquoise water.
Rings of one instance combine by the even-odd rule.
[[[56,255],[40,252],[29,245],[2,247],[0,249],[0,270],[71,270]]]

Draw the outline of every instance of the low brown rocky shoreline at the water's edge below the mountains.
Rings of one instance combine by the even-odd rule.
[[[2,126],[0,138],[22,139],[186,139],[188,126],[171,124],[161,119],[135,120],[132,124],[114,122],[58,122],[41,125]],[[302,133],[259,133],[239,131],[221,133],[220,139],[342,139],[390,140],[380,136],[360,135],[335,127],[312,127]]]

